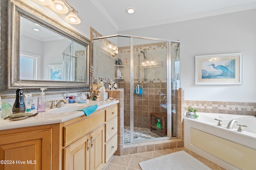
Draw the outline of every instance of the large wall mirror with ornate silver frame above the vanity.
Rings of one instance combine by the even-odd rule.
[[[1,94],[19,86],[88,89],[90,40],[26,2],[8,2],[8,89]]]

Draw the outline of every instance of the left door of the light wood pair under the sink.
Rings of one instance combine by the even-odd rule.
[[[90,135],[64,149],[65,170],[90,170]]]

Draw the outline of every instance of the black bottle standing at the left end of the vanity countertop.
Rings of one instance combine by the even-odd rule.
[[[16,90],[16,99],[12,106],[12,113],[22,113],[26,111],[23,94],[24,92],[21,87]]]

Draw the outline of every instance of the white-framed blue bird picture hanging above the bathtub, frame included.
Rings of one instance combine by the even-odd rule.
[[[242,53],[196,56],[196,84],[242,84]]]

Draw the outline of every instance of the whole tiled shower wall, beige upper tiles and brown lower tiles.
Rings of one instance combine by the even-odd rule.
[[[177,48],[176,43],[171,44]],[[156,66],[144,69],[141,65],[144,60],[140,51],[146,49],[146,59],[154,59]],[[142,95],[133,93],[134,98],[134,126],[150,128],[150,112],[164,112],[167,109],[161,105],[167,102],[167,64],[166,64],[166,42],[151,43],[134,46],[134,85],[143,86]],[[138,55],[140,54],[140,56]],[[119,47],[118,55],[122,59],[123,67],[120,67],[124,80],[118,81],[118,88],[124,89],[124,125],[130,126],[130,47]],[[176,57],[176,56],[175,56]],[[140,67],[140,70],[138,69]],[[138,71],[140,77],[138,79]],[[145,74],[146,71],[146,80]],[[134,91],[134,89],[131,89]],[[176,97],[172,99],[176,100]],[[156,121],[156,120],[155,120]]]

